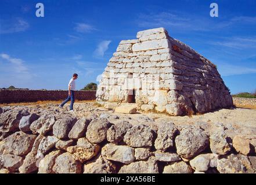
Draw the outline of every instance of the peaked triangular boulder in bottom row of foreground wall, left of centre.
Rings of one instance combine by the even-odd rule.
[[[116,165],[106,160],[102,156],[98,156],[92,161],[88,161],[84,165],[84,173],[116,173]]]

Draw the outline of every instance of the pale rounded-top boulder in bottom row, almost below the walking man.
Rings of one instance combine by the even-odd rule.
[[[53,166],[55,173],[81,173],[82,165],[80,162],[75,161],[72,154],[66,152],[58,156]]]

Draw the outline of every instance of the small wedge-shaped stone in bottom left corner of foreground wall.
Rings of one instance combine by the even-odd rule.
[[[10,172],[15,172],[22,165],[23,158],[12,154],[2,155],[3,166]]]

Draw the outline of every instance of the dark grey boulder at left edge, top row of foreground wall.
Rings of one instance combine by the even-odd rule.
[[[17,131],[21,118],[28,114],[29,112],[25,109],[12,109],[0,114],[0,132]]]

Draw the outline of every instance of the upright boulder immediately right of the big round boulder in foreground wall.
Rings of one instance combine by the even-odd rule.
[[[228,136],[223,128],[219,128],[212,132],[210,135],[210,148],[212,153],[220,155],[227,154],[231,150],[231,147],[226,140],[227,138]]]

